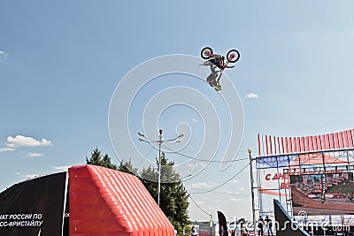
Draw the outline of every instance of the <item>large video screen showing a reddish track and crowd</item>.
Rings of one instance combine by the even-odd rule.
[[[294,214],[354,214],[352,172],[291,175],[290,186]]]

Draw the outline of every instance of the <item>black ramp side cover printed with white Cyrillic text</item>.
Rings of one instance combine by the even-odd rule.
[[[16,184],[0,194],[0,235],[61,236],[66,172]]]

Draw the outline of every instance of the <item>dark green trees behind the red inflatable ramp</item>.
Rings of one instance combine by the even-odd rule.
[[[121,161],[117,167],[112,164],[111,157],[108,154],[102,155],[101,150],[95,148],[89,158],[86,156],[86,164],[100,165],[137,176],[141,179],[142,184],[149,191],[155,202],[158,202],[158,160],[156,168],[153,166],[143,168],[139,174],[138,169],[133,166],[130,159],[129,161]],[[171,221],[174,229],[181,235],[184,227],[189,224],[189,194],[181,183],[180,174],[174,171],[173,165],[174,163],[168,161],[165,153],[162,153],[160,208]]]

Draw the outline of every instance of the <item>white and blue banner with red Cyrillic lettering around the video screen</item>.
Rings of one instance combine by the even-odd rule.
[[[261,213],[273,212],[273,199],[291,216],[306,211],[316,219],[354,225],[354,149],[260,156],[256,159]]]

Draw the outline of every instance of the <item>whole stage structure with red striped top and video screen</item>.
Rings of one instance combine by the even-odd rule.
[[[253,216],[273,200],[300,224],[354,225],[354,129],[306,137],[258,134]]]

